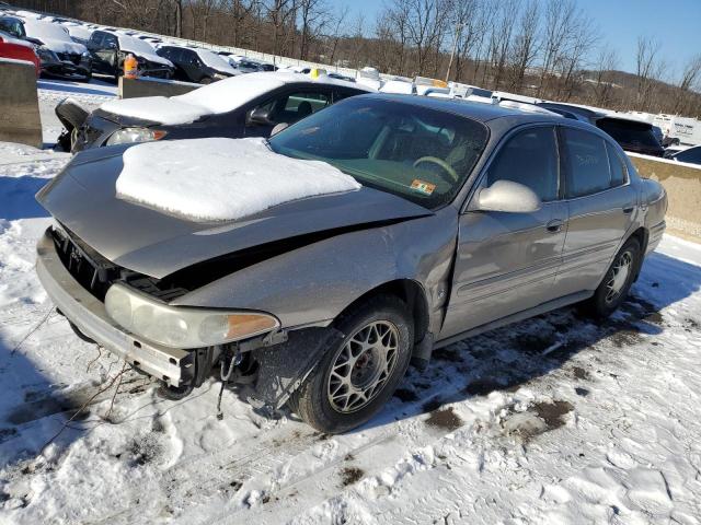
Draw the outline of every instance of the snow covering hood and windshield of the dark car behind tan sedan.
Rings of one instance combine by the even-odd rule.
[[[243,104],[281,88],[287,82],[308,78],[285,73],[249,73],[220,80],[184,95],[147,96],[110,101],[100,109],[125,117],[152,120],[166,126],[189,124],[205,115],[232,112]]]

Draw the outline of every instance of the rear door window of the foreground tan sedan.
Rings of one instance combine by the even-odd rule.
[[[564,128],[567,197],[584,197],[611,187],[606,141],[588,131]]]

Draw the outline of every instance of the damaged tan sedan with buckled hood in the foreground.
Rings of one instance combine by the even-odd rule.
[[[74,158],[37,194],[56,220],[38,243],[39,279],[83,337],[164,395],[189,394],[219,365],[243,397],[288,402],[322,432],[367,422],[410,359],[425,365],[435,348],[568,304],[611,314],[665,230],[663,187],[608,135],[559,116],[374,94],[311,115],[269,149],[210,140]],[[189,180],[222,148],[254,145],[265,156],[246,155],[241,173],[313,160],[303,171],[335,167],[361,186],[214,222],[115,195],[126,158],[153,195],[174,175],[157,151],[176,154]],[[279,190],[222,175],[203,195],[225,206]]]

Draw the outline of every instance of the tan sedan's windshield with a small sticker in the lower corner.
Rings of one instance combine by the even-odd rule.
[[[273,137],[276,153],[325,161],[428,209],[452,200],[487,140],[470,118],[411,103],[347,98]]]

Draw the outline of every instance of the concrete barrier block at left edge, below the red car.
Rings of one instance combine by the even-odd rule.
[[[36,68],[31,62],[0,58],[0,141],[44,144]]]

